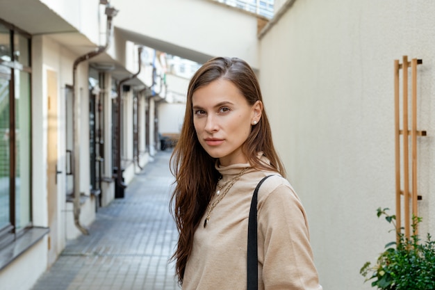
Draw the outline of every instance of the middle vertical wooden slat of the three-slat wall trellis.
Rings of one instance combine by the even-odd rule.
[[[405,236],[409,237],[409,141],[408,141],[408,56],[403,56],[403,173],[404,173],[404,227]]]

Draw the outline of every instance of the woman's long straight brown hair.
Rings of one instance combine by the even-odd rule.
[[[171,172],[176,179],[176,186],[170,209],[179,230],[177,250],[172,259],[176,260],[180,284],[183,284],[186,263],[192,251],[193,234],[206,211],[219,177],[219,172],[215,169],[216,159],[207,154],[197,138],[193,125],[192,95],[198,88],[217,79],[226,79],[234,83],[250,106],[258,100],[263,102],[254,71],[239,58],[212,58],[202,65],[190,80],[186,115],[179,141],[171,156]],[[263,152],[268,157],[270,165],[258,159],[258,152]],[[243,153],[254,168],[285,175],[284,166],[274,150],[270,124],[264,108],[261,119],[258,124],[252,126],[252,131],[243,144]]]

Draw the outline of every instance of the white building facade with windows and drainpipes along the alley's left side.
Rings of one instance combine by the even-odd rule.
[[[0,1],[1,289],[31,289],[159,149],[165,54],[116,33],[117,12]]]

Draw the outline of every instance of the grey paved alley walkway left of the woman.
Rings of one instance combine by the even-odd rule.
[[[175,290],[177,242],[169,213],[169,151],[158,152],[126,188],[99,208],[89,236],[69,241],[32,290]]]

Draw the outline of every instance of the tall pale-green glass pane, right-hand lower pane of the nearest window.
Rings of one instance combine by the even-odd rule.
[[[15,71],[15,228],[31,222],[30,74]]]

